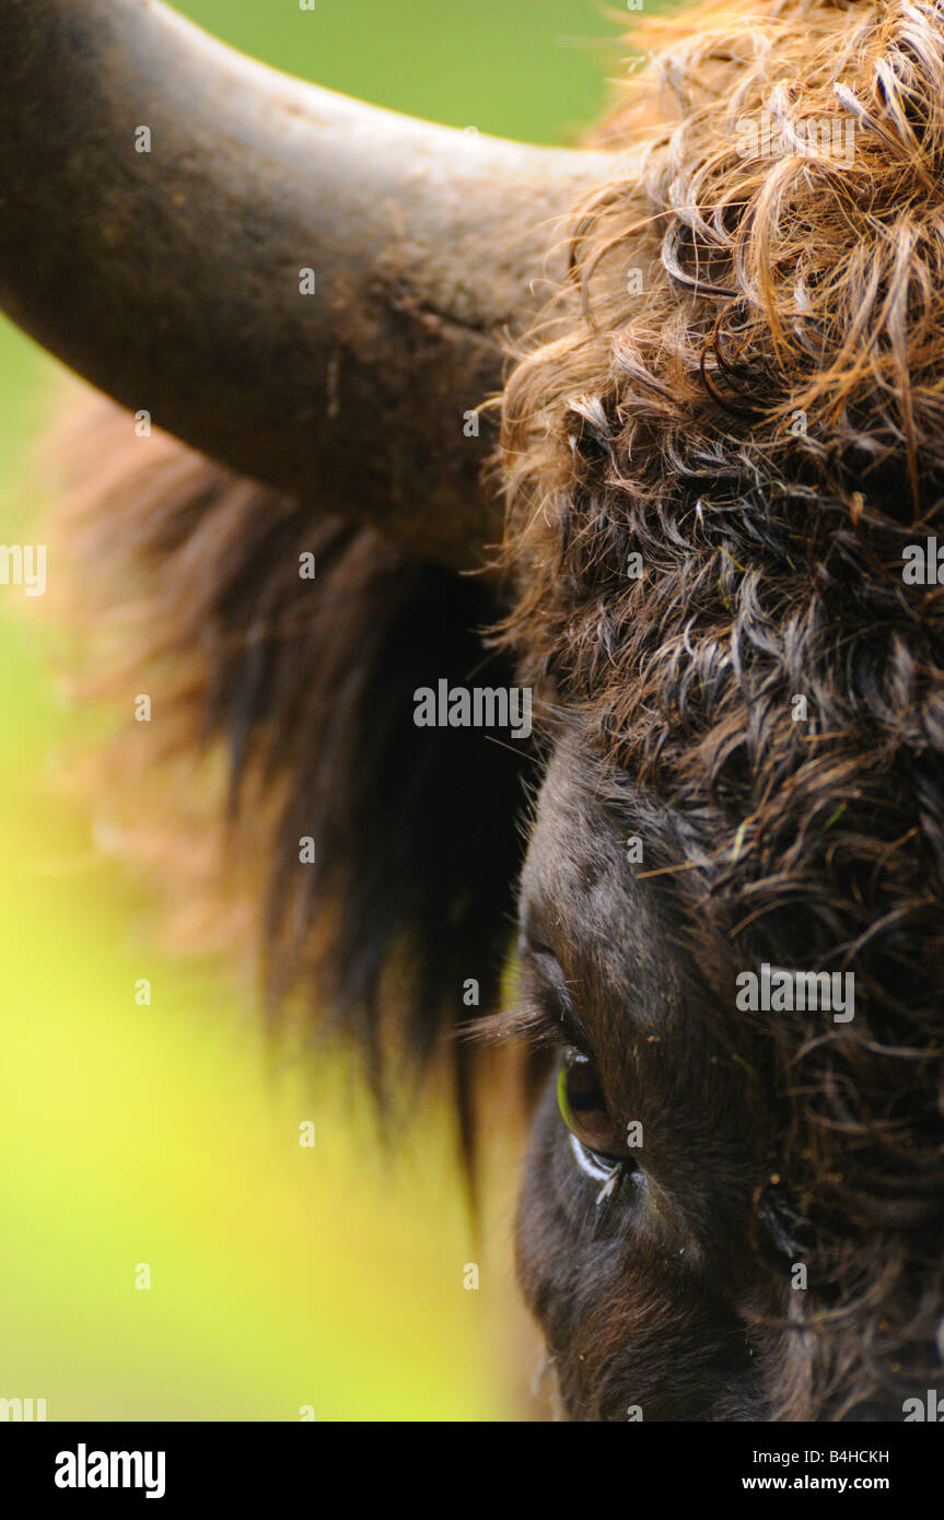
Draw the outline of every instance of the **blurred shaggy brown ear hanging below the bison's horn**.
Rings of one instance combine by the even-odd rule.
[[[497,996],[527,752],[508,731],[413,722],[418,687],[514,681],[476,634],[493,593],[135,438],[111,406],[70,432],[59,537],[93,686],[126,711],[152,693],[132,736],[152,780],[181,755],[225,758],[217,815],[233,869],[255,866],[269,1006],[350,1034],[382,1093]],[[471,1047],[447,1058],[468,1125]]]

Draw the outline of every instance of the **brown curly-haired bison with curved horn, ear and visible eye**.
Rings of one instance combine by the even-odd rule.
[[[526,1043],[562,1412],[903,1420],[944,1371],[944,8],[641,35],[550,150],[157,0],[3,0],[0,304],[112,398],[61,514],[94,676],[225,771],[268,1005],[382,1102],[450,1061],[470,1157]]]

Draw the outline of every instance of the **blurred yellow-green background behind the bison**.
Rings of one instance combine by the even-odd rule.
[[[619,12],[591,0],[179,9],[319,84],[535,141],[594,119],[619,56]],[[36,537],[55,375],[0,325],[3,543]],[[0,1397],[46,1398],[49,1420],[531,1417],[514,1143],[476,1245],[435,1102],[389,1160],[344,1073],[272,1076],[246,996],[160,952],[147,894],[59,784],[88,714],[27,610],[0,587]]]

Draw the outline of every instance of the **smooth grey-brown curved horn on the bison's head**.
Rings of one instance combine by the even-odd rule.
[[[464,413],[607,163],[301,84],[158,0],[0,0],[0,306],[187,444],[453,565],[500,537]]]

